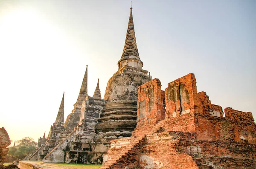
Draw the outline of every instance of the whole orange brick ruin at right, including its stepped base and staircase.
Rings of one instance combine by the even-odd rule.
[[[128,145],[122,144],[122,139],[111,141],[105,155],[108,161],[102,169],[256,168],[256,124],[252,113],[228,107],[223,117],[222,107],[211,104],[205,92],[197,92],[194,74],[169,83],[165,90],[166,110],[158,79],[141,85],[138,96],[138,105],[142,105],[138,107],[138,124],[132,137],[125,138],[131,141]],[[158,102],[153,101],[156,98]],[[162,115],[165,118],[157,121]],[[139,148],[132,152],[126,149],[140,137],[145,141]]]

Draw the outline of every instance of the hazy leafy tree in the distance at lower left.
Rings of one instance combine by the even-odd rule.
[[[9,148],[6,161],[15,161],[25,158],[30,152],[36,149],[37,143],[30,137],[24,137],[17,141],[17,146]]]

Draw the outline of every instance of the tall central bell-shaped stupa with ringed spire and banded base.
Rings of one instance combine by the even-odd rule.
[[[109,79],[106,87],[104,99],[107,103],[95,127],[96,140],[103,142],[131,136],[131,131],[136,127],[138,86],[151,79],[148,71],[142,69],[132,8],[124,50],[117,65],[118,71]]]

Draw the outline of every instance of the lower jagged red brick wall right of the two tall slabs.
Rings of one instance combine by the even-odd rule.
[[[256,125],[252,113],[211,104],[205,92],[198,93],[198,112],[195,116],[198,140],[205,141],[248,141],[256,143]]]

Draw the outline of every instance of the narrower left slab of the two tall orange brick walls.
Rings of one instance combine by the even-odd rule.
[[[159,127],[164,125],[164,112],[165,101],[160,80],[153,79],[139,86],[137,127],[132,135],[141,136],[158,130]],[[158,124],[159,121],[162,122]]]

